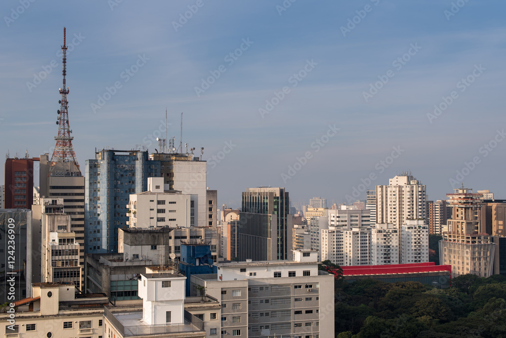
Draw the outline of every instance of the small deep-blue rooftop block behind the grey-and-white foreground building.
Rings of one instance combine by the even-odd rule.
[[[206,244],[181,243],[179,270],[186,276],[186,297],[190,297],[190,276],[217,273],[211,257],[211,246]]]

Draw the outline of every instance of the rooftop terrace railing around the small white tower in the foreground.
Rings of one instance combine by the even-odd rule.
[[[184,312],[184,323],[167,323],[157,325],[123,326],[123,324],[121,324],[121,322],[107,308],[104,308],[104,315],[123,337],[204,331],[204,322],[186,310]]]

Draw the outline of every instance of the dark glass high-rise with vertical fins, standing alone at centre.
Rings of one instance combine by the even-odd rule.
[[[248,188],[239,214],[240,261],[291,260],[292,215],[284,188]]]

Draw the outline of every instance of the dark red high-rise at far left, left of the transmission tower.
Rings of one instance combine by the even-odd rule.
[[[5,159],[5,208],[27,208],[33,204],[33,161],[38,158]]]

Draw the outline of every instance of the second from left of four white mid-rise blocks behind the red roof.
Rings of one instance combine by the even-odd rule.
[[[350,230],[344,230],[344,265],[371,265],[371,239],[370,228],[352,228]]]

